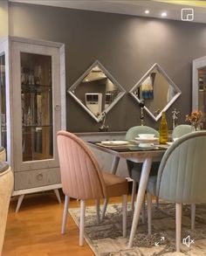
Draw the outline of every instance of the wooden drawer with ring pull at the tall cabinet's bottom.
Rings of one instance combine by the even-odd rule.
[[[26,190],[61,183],[58,168],[15,172],[15,190]]]

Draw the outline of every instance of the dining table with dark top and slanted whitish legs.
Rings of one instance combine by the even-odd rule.
[[[158,142],[154,144],[142,144],[134,141],[122,141],[121,143],[110,142],[87,142],[89,146],[113,155],[113,164],[111,172],[116,174],[120,158],[133,161],[134,163],[143,163],[141,170],[141,179],[134,207],[134,217],[130,232],[128,247],[133,246],[134,235],[137,229],[139,218],[141,215],[141,207],[144,201],[145,192],[148,184],[148,176],[151,170],[152,162],[161,161],[162,156],[168,149],[168,145],[160,145]],[[146,145],[146,146],[143,146]],[[148,145],[148,147],[147,147]]]

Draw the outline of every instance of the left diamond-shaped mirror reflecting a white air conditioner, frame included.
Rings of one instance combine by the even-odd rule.
[[[100,121],[126,93],[104,66],[96,60],[67,91],[95,121]]]

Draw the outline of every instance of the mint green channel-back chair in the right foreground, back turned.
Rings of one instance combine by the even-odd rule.
[[[151,234],[151,195],[174,202],[176,252],[180,252],[182,204],[206,203],[205,152],[206,131],[183,135],[167,149],[158,175],[148,179],[148,233]]]

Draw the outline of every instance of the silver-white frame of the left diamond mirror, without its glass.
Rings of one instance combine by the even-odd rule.
[[[86,75],[91,72],[91,70],[93,69],[94,66],[99,66],[100,69],[103,71],[103,73],[106,74],[106,77],[107,77],[108,79],[110,79],[110,80],[113,82],[114,85],[118,86],[118,87],[120,88],[120,91],[121,91],[121,92],[118,94],[118,96],[113,100],[113,102],[112,102],[108,107],[106,107],[105,110],[103,110],[103,111],[99,114],[99,116],[96,116],[95,114],[93,114],[93,112],[90,111],[89,108],[87,108],[87,107],[81,102],[81,100],[79,100],[79,98],[78,98],[74,93],[72,93],[72,91],[74,91],[74,90],[76,89],[76,87],[79,86],[80,82],[81,82],[82,80],[84,80],[84,78],[86,77]],[[90,66],[90,67],[86,70],[86,72],[83,73],[83,74],[79,77],[79,79],[67,90],[67,93],[69,93],[69,94],[73,97],[73,99],[76,100],[76,101],[79,103],[79,105],[80,105],[81,107],[83,107],[83,108],[86,110],[86,112],[87,112],[88,114],[90,114],[90,115],[93,117],[93,119],[94,119],[95,121],[99,122],[99,121],[102,119],[102,114],[103,114],[104,112],[105,112],[105,113],[108,113],[108,112],[110,111],[110,109],[112,109],[113,106],[120,100],[120,98],[122,98],[122,97],[124,96],[124,94],[126,93],[126,91],[125,91],[125,89],[124,89],[122,86],[120,86],[120,84],[117,82],[117,80],[115,80],[115,79],[113,78],[113,76],[111,75],[111,73],[109,73],[109,72],[106,70],[106,68],[100,64],[100,61],[99,61],[99,60],[96,60],[96,61],[93,63],[93,65]]]

